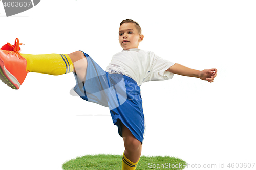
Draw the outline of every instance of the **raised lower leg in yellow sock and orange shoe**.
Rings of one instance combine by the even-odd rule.
[[[12,89],[19,89],[28,72],[62,75],[74,67],[67,54],[20,54],[19,39],[14,45],[7,43],[0,49],[0,80]]]

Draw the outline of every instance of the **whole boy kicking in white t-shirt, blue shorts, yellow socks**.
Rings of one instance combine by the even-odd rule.
[[[122,169],[136,169],[144,139],[144,114],[140,86],[143,82],[172,79],[174,74],[213,82],[217,69],[194,70],[164,60],[153,52],[139,50],[144,36],[139,24],[126,19],[120,23],[119,43],[123,50],[112,57],[103,71],[82,51],[71,54],[20,54],[19,40],[0,50],[0,79],[19,89],[28,72],[61,75],[73,72],[74,90],[84,100],[109,107],[113,123],[124,141]]]

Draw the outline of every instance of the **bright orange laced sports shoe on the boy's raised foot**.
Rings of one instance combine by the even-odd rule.
[[[29,72],[26,59],[19,54],[20,44],[16,38],[15,45],[7,43],[0,50],[0,79],[13,89],[19,89]]]

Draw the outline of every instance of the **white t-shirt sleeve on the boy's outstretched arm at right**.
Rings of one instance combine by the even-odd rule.
[[[165,60],[152,52],[151,57],[153,57],[152,71],[150,75],[151,81],[157,80],[167,80],[172,79],[174,74],[169,71],[165,71],[175,63]]]

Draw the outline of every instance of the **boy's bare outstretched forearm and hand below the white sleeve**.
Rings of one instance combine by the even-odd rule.
[[[181,64],[174,64],[166,71],[172,72],[174,74],[182,75],[182,76],[190,76],[190,77],[197,77],[202,80],[207,80],[208,82],[213,82],[214,78],[217,76],[217,69],[204,69],[202,71],[191,69],[185,67]]]

